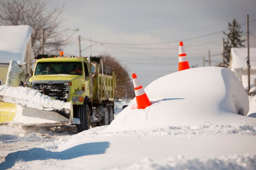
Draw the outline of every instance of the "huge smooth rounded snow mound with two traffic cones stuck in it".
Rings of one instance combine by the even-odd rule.
[[[232,125],[256,123],[246,117],[249,99],[229,69],[200,67],[163,76],[145,91],[152,105],[137,109],[136,99],[112,121],[105,131],[129,131],[165,126],[193,126],[207,123]]]

